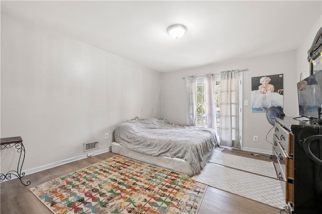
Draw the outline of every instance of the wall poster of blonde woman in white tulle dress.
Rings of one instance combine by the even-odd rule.
[[[271,106],[284,108],[283,74],[252,77],[252,113],[266,113]]]

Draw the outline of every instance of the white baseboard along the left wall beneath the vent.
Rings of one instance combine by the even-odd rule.
[[[92,156],[95,156],[95,155],[99,155],[99,154],[102,154],[102,153],[105,153],[105,152],[110,152],[110,151],[111,151],[111,147],[109,147],[107,149],[102,149],[102,150],[99,150],[99,151],[95,151],[95,152],[91,151],[91,153],[92,153]],[[35,167],[35,168],[23,170],[23,172],[25,172],[25,176],[26,176],[26,175],[30,175],[30,174],[40,172],[40,171],[43,171],[43,170],[46,170],[46,169],[50,169],[50,168],[53,168],[53,167],[56,167],[56,166],[61,166],[61,165],[64,165],[66,163],[71,163],[71,162],[74,162],[74,161],[77,161],[77,160],[82,160],[82,159],[85,159],[87,157],[88,157],[87,154],[79,155],[79,156],[76,156],[76,157],[73,157],[73,158],[68,158],[66,160],[56,161],[54,163],[50,163],[50,164],[47,164],[47,165],[38,166],[38,167]],[[11,180],[16,179],[16,178],[17,177],[12,176]],[[5,181],[8,181],[8,180],[5,179],[2,182],[5,182]]]

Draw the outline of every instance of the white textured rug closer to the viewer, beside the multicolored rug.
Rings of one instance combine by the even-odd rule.
[[[209,162],[192,179],[279,209],[286,206],[281,181],[278,179]]]

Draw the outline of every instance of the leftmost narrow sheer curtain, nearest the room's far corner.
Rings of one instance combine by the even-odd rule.
[[[185,77],[186,80],[186,95],[187,95],[187,123],[191,126],[196,126],[196,77]]]

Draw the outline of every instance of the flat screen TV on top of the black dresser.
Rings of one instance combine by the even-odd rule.
[[[317,119],[322,105],[322,70],[297,83],[299,115]]]

